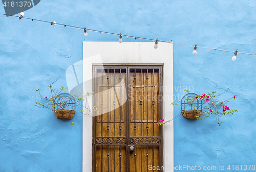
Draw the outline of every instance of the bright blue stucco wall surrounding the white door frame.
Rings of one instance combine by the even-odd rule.
[[[256,53],[256,2],[249,1],[41,1],[25,16],[106,32]],[[4,13],[3,6],[0,12]],[[24,16],[24,17],[25,17]],[[118,41],[118,36],[0,16],[0,171],[81,171],[82,117],[59,120],[34,107],[35,91],[82,60],[82,41]],[[141,41],[123,38],[123,41]],[[152,44],[153,48],[154,43]],[[192,86],[198,94],[231,88],[238,113],[208,120],[174,120],[174,164],[256,165],[255,56],[174,45],[174,94]],[[190,88],[192,88],[190,87]],[[44,90],[45,88],[45,90]],[[225,98],[224,96],[224,98]],[[175,116],[180,107],[175,107]],[[168,143],[165,143],[168,144]],[[168,164],[166,164],[168,165]],[[244,166],[243,166],[244,168]],[[232,170],[230,170],[232,171]]]

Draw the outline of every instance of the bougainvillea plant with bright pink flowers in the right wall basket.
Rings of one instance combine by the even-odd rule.
[[[186,101],[186,104],[190,106],[191,110],[195,110],[200,113],[200,115],[195,116],[196,119],[202,119],[201,115],[203,115],[205,119],[213,115],[214,121],[220,126],[223,122],[219,120],[219,117],[227,114],[233,114],[234,112],[238,112],[237,109],[230,110],[229,107],[226,105],[228,102],[230,102],[231,99],[236,99],[237,95],[233,95],[230,99],[225,101],[217,100],[218,96],[228,92],[229,90],[230,89],[228,88],[225,92],[221,94],[220,93],[217,94],[216,91],[212,91],[202,95],[189,96],[185,98],[185,101]],[[185,89],[184,92],[190,93],[188,89]],[[180,104],[173,102],[171,105],[174,105],[174,106],[181,105],[181,102]],[[184,110],[183,113],[186,113],[186,111],[187,110]],[[173,119],[164,121],[164,119],[159,119],[156,125],[157,126],[164,125],[172,120]]]

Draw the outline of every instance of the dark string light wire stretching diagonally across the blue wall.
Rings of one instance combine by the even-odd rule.
[[[15,17],[15,18],[19,18],[19,16],[14,16],[14,15],[8,15],[8,14],[4,14],[4,13],[0,13],[2,15],[7,15],[7,16],[11,16],[11,17]],[[29,21],[35,21],[35,22],[40,22],[40,23],[44,23],[44,24],[50,24],[51,25],[51,21],[44,21],[44,20],[38,20],[38,19],[33,19],[33,18],[27,18],[27,17],[22,17],[21,19],[25,19],[25,20],[29,20]],[[84,30],[84,27],[76,27],[76,26],[70,26],[68,24],[61,24],[61,23],[56,23],[56,26],[60,26],[60,27],[65,27],[65,28],[71,28],[71,29],[79,29],[79,30]],[[91,31],[91,32],[98,32],[98,33],[104,33],[104,34],[110,34],[110,35],[116,35],[119,36],[120,34],[116,34],[116,33],[111,33],[111,32],[105,32],[105,31],[98,31],[98,30],[94,30],[94,29],[86,29],[87,31]],[[129,38],[135,38],[135,39],[142,39],[142,40],[149,40],[149,41],[156,41],[155,39],[150,39],[150,38],[142,38],[142,37],[136,37],[136,36],[131,36],[131,35],[123,35],[124,37],[129,37]],[[170,42],[170,41],[161,41],[158,40],[158,42],[165,42],[165,43],[172,43],[172,44],[176,44],[176,45],[183,45],[183,46],[192,46],[194,47],[195,45],[187,45],[187,44],[182,44],[182,43],[175,43],[175,42]],[[198,48],[205,48],[205,49],[209,49],[209,50],[217,50],[217,51],[224,51],[224,52],[232,52],[235,53],[236,51],[229,51],[229,50],[221,50],[218,48],[209,48],[209,47],[203,47],[203,46],[197,46]],[[251,54],[251,53],[243,53],[243,52],[237,52],[240,54],[247,54],[247,55],[256,55],[256,54]]]

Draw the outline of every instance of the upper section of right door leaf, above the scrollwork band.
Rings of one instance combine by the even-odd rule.
[[[148,77],[147,77],[147,76]],[[136,72],[136,85],[134,84],[134,70],[130,73],[130,82],[129,82],[129,97],[130,97],[130,107],[135,107],[136,99],[136,122],[153,122],[153,108],[152,103],[154,101],[154,106],[158,107],[158,95],[159,95],[159,73],[154,72],[154,85],[153,85],[153,73],[146,70],[137,70]],[[136,87],[136,92],[134,91]],[[153,97],[154,91],[154,97]],[[136,96],[134,96],[136,93]],[[142,108],[140,107],[142,106]],[[141,108],[141,109],[140,109]],[[130,109],[131,113],[131,122],[134,122],[134,112],[135,109]],[[158,121],[158,110],[159,108],[154,109],[154,122]],[[142,114],[142,115],[141,115]],[[142,120],[141,120],[142,118]]]

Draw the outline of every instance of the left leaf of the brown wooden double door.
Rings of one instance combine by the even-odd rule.
[[[120,70],[96,70],[95,171],[126,171],[125,75]]]

